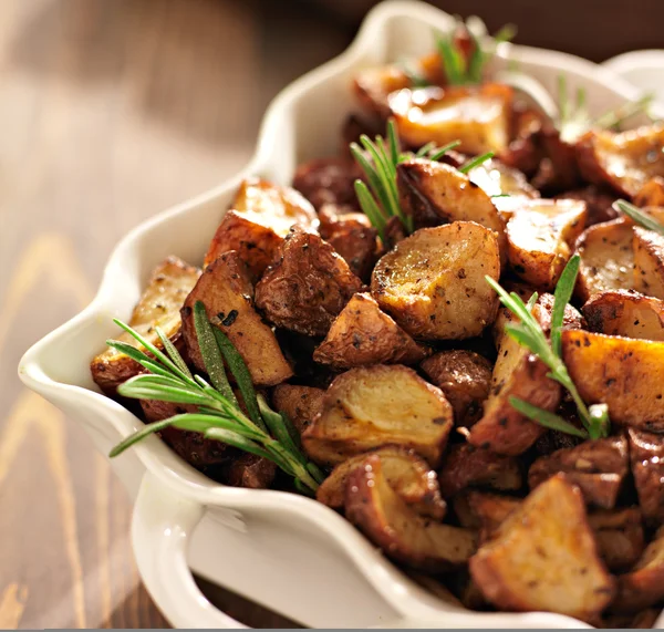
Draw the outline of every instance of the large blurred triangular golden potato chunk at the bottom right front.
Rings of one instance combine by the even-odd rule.
[[[591,620],[614,593],[581,493],[561,476],[538,487],[507,517],[470,559],[470,573],[501,610]]]

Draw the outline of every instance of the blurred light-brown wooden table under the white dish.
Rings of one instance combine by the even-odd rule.
[[[349,41],[271,4],[0,2],[0,628],[166,625],[124,489],[15,367],[91,300],[127,229],[238,170],[269,99]]]

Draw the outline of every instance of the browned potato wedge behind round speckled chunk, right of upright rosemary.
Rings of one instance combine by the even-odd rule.
[[[466,174],[423,158],[401,163],[396,173],[402,205],[415,218],[433,215],[446,222],[476,221],[496,232],[505,252],[505,221],[489,195]]]

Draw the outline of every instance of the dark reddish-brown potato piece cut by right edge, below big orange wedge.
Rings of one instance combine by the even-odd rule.
[[[627,429],[630,459],[639,505],[644,520],[664,524],[664,437],[635,428]]]

